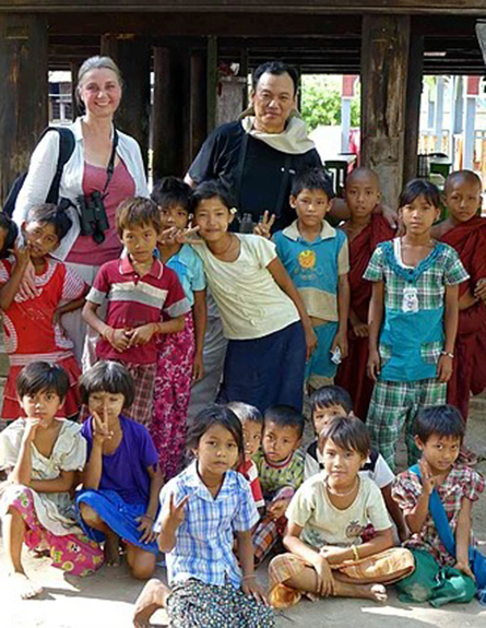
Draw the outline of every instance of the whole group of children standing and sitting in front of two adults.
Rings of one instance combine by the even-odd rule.
[[[2,217],[0,248],[12,252],[0,260],[11,362],[2,417],[21,418],[0,433],[0,513],[21,595],[39,592],[22,567],[24,542],[85,576],[119,562],[121,538],[135,578],[149,579],[166,554],[170,589],[147,584],[138,626],[159,606],[178,626],[271,626],[269,602],[381,601],[392,582],[407,600],[472,599],[471,505],[483,479],[458,461],[470,454],[470,393],[486,384],[481,181],[448,178],[449,217],[438,225],[437,188],[411,181],[399,236],[377,211],[372,171],[354,170],[345,195],[351,217],[334,228],[325,173],[296,174],[297,218],[270,241],[232,230],[236,210],[220,183],[191,191],[165,179],[152,200],[120,204],[123,253],[91,288],[49,257],[70,227],[62,210],[29,210],[13,248]],[[34,295],[23,285],[31,266]],[[187,433],[206,285],[228,348],[220,405]],[[60,322],[83,304],[99,341],[98,362],[81,375]],[[317,437],[306,451],[305,383]],[[81,404],[82,424],[59,418],[75,418]],[[403,429],[408,463],[420,466],[395,478]],[[185,446],[193,461],[181,471]],[[436,488],[455,556],[428,512]],[[254,562],[281,544],[266,599]]]

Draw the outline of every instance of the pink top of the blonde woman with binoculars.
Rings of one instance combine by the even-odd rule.
[[[103,190],[106,183],[106,168],[84,163],[83,193],[90,194],[95,190]],[[125,199],[135,194],[135,182],[123,162],[115,167],[105,197],[105,210],[110,228],[105,232],[105,241],[97,245],[91,236],[79,236],[66,261],[76,264],[98,266],[109,262],[121,252],[121,242],[117,236],[115,215],[118,205]]]

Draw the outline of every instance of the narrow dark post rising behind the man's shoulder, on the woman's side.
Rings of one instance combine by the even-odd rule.
[[[206,138],[206,82],[205,55],[194,51],[191,55],[191,88],[190,88],[190,162],[199,152]]]

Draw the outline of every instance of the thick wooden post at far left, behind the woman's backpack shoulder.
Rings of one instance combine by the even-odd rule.
[[[0,201],[47,126],[47,69],[46,19],[0,13]]]

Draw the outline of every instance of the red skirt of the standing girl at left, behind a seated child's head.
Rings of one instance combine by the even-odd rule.
[[[46,359],[47,356],[43,354],[43,359],[45,362],[49,362]],[[32,362],[35,362],[35,356],[33,356]],[[67,357],[61,359],[52,359],[52,363],[61,366],[69,376],[70,388],[68,391],[68,395],[63,405],[59,408],[59,417],[67,417],[67,418],[75,418],[78,413],[80,412],[81,406],[81,398],[78,388],[78,381],[81,377],[81,369],[74,357],[74,354],[71,354]],[[19,398],[16,395],[16,380],[17,377],[23,369],[23,366],[10,365],[9,368],[9,377],[5,383],[5,391],[3,394],[3,406],[2,406],[2,418],[5,420],[14,420],[20,416],[24,417],[25,412],[23,411],[21,404],[19,403]]]

